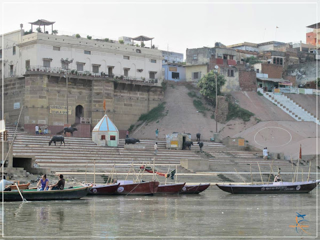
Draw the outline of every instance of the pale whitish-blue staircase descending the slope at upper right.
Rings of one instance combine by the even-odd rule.
[[[317,119],[310,112],[303,109],[300,105],[296,104],[290,98],[284,94],[274,94],[273,92],[264,92],[262,89],[258,88],[258,91],[263,94],[268,100],[276,104],[287,114],[292,116],[297,121],[313,121],[320,124],[320,120]]]

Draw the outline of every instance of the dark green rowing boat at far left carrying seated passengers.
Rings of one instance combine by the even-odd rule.
[[[27,201],[44,201],[44,200],[70,200],[79,199],[85,196],[89,190],[90,186],[74,187],[63,190],[50,190],[50,191],[37,191],[36,189],[25,189],[20,190],[22,196]],[[17,190],[11,191],[0,191],[0,200],[4,201],[21,201],[22,198]]]

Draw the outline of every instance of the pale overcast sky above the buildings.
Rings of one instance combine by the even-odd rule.
[[[58,34],[79,33],[92,38],[118,39],[119,36],[154,37],[152,44],[159,49],[184,54],[186,48],[247,42],[305,41],[305,26],[317,22],[316,0],[192,2],[179,1],[101,1],[33,0],[1,1],[0,33],[19,29],[29,30],[28,22],[37,19],[55,21]],[[302,1],[301,1],[302,2]],[[278,26],[278,28],[276,28]],[[36,28],[36,27],[35,27]],[[42,29],[43,30],[43,29]],[[50,29],[48,29],[50,30]],[[145,42],[146,46],[150,44]]]

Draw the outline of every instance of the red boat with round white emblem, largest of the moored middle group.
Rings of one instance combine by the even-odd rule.
[[[153,195],[157,189],[158,181],[117,181],[119,186],[115,191],[115,195]]]

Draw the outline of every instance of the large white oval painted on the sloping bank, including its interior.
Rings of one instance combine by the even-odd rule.
[[[270,129],[275,128],[275,129]],[[266,126],[258,130],[254,135],[254,141],[260,146],[278,147],[288,144],[292,139],[291,133],[277,126]],[[274,144],[274,143],[278,144]],[[273,143],[273,144],[272,144]]]

